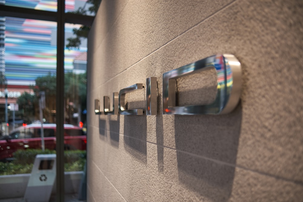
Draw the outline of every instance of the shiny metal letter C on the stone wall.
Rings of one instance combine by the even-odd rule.
[[[125,108],[125,94],[133,91],[143,89],[143,84],[134,84],[123,88],[119,91],[119,113],[121,115],[143,115],[143,109],[129,109]]]

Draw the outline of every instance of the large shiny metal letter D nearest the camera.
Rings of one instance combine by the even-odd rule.
[[[176,106],[176,79],[208,68],[217,73],[217,95],[208,105]],[[227,114],[241,94],[241,64],[234,55],[213,55],[163,74],[163,114]]]

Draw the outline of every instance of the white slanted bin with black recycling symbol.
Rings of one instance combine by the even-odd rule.
[[[28,180],[24,200],[48,202],[56,178],[56,154],[38,154]]]

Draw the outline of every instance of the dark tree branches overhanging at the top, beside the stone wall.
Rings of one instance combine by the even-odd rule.
[[[85,5],[83,7],[78,8],[78,10],[71,12],[74,14],[79,14],[79,15],[86,15],[87,11],[90,13],[93,13],[94,15],[97,13],[99,5],[101,3],[101,0],[87,0],[85,2]],[[86,9],[86,5],[90,5],[88,9]],[[66,45],[66,48],[69,50],[75,48],[79,49],[79,46],[81,45],[81,39],[82,38],[87,38],[88,36],[88,31],[90,30],[90,26],[83,25],[79,29],[74,28],[73,29],[73,34],[75,37],[70,37],[67,38],[68,44]]]

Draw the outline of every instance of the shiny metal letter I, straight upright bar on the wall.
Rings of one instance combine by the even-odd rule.
[[[157,77],[146,79],[146,115],[157,115]]]

